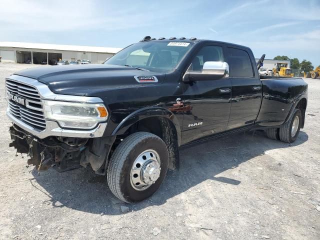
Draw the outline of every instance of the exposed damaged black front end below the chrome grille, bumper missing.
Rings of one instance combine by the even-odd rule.
[[[80,138],[48,136],[43,139],[29,134],[13,124],[9,128],[13,146],[17,153],[26,153],[28,165],[38,171],[50,166],[59,172],[80,166],[91,165],[97,174],[105,174],[108,155],[114,137]]]

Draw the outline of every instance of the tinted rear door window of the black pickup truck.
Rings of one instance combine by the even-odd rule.
[[[253,69],[248,53],[244,50],[227,47],[227,63],[231,77],[252,77]]]

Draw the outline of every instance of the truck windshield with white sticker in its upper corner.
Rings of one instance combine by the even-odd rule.
[[[132,66],[150,71],[169,72],[190,49],[190,42],[138,42],[107,59],[104,64]]]

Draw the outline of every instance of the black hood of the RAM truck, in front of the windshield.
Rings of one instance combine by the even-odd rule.
[[[37,79],[57,94],[89,95],[114,88],[160,84],[164,73],[108,64],[79,64],[35,67],[14,73]],[[134,76],[156,76],[157,82],[137,82]]]

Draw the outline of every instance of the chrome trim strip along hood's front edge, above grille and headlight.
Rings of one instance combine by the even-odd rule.
[[[9,77],[6,77],[8,80],[14,80],[21,82],[23,84],[29,85],[31,87],[35,87],[40,95],[41,100],[61,100],[61,101],[72,101],[72,102],[90,102],[90,103],[103,103],[102,99],[94,96],[76,96],[76,95],[63,95],[63,94],[55,94],[53,93],[49,87],[39,82],[36,79],[15,75],[12,74]],[[31,90],[31,89],[30,89]],[[34,88],[32,89],[35,90]]]

